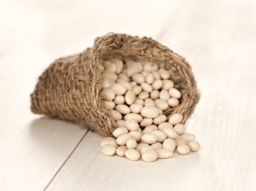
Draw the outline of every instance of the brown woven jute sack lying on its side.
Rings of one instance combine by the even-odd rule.
[[[96,38],[94,46],[81,53],[56,59],[39,76],[31,94],[31,110],[89,127],[103,136],[112,136],[116,123],[105,108],[101,85],[104,71],[99,65],[109,58],[147,59],[171,71],[182,97],[180,105],[164,112],[168,117],[183,114],[185,123],[200,98],[189,63],[152,38],[109,33]]]

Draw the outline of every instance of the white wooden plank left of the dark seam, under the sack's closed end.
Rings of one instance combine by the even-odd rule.
[[[0,190],[42,190],[87,129],[30,112],[37,77],[54,59],[108,32],[154,35],[169,1],[0,1]]]

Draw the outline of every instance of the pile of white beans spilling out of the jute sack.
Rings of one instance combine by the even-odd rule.
[[[200,144],[195,135],[185,133],[183,116],[173,114],[167,120],[164,111],[179,105],[181,93],[174,88],[170,71],[164,65],[147,61],[110,59],[100,65],[104,70],[103,93],[117,127],[113,136],[101,141],[101,153],[115,153],[129,160],[153,162],[190,151],[197,152]]]

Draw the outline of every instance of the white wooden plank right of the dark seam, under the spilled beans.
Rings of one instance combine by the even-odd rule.
[[[255,3],[187,4],[170,14],[169,28],[157,37],[186,55],[194,70],[202,98],[187,129],[201,151],[130,162],[103,156],[101,136],[89,132],[47,190],[256,189]]]

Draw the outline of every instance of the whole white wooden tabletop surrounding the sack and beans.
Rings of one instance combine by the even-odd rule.
[[[0,0],[0,190],[256,190],[256,2]],[[198,153],[154,163],[100,153],[101,136],[33,115],[37,77],[107,32],[151,36],[191,63]]]

